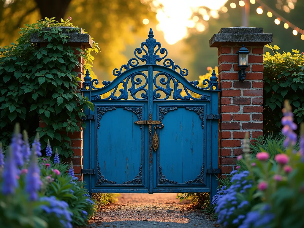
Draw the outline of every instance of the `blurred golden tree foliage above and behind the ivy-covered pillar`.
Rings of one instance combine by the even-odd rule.
[[[106,72],[124,64],[122,54],[132,43],[133,34],[146,35],[144,18],[155,20],[155,13],[140,0],[0,0],[0,46],[19,36],[19,27],[45,16],[73,18],[73,24],[85,29],[99,43],[101,52],[95,64]]]

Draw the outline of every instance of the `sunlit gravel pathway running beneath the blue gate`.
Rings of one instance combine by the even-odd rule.
[[[218,227],[189,201],[179,202],[177,193],[121,194],[119,201],[100,210],[88,228],[184,228]]]

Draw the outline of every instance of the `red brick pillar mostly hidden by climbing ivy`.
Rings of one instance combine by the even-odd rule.
[[[93,41],[91,39],[91,36],[87,33],[84,33],[84,31],[81,28],[80,33],[78,31],[71,31],[71,29],[74,29],[72,27],[60,27],[63,31],[63,33],[67,36],[68,42],[65,44],[66,46],[70,46],[74,51],[75,54],[78,55],[79,51],[76,49],[80,48],[81,50],[84,50],[85,48],[92,47]],[[49,30],[50,28],[45,28],[45,30]],[[46,46],[47,40],[44,40],[41,36],[38,36],[38,34],[31,34],[31,43],[37,43],[39,46]],[[78,82],[77,89],[80,92],[80,89],[82,88],[83,83],[83,77],[84,77],[84,70],[83,66],[85,64],[85,60],[83,57],[78,58],[79,66],[76,66],[73,71],[75,71],[78,74],[78,77],[81,78],[81,81]],[[80,131],[75,131],[73,133],[69,132],[68,134],[66,132],[62,132],[63,134],[67,134],[71,139],[71,149],[74,151],[74,154],[72,157],[69,157],[67,159],[64,159],[64,162],[71,163],[73,162],[74,167],[74,174],[76,177],[78,177],[79,180],[82,181],[82,160],[83,160],[83,129],[81,127],[81,123],[77,123],[77,125],[81,128]],[[46,124],[43,123],[40,119],[39,122],[40,127],[45,127]]]

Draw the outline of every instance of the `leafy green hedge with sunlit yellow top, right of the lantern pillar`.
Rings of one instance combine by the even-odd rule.
[[[294,110],[295,122],[299,124],[304,119],[304,55],[299,50],[278,53],[277,45],[266,47],[273,55],[264,54],[264,134],[278,136],[284,99]]]

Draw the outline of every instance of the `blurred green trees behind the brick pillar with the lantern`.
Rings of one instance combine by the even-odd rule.
[[[237,7],[235,9],[230,8],[230,3],[235,2]],[[282,10],[278,10],[275,7],[276,0],[263,0],[271,9],[278,12],[282,17],[290,21],[291,23],[299,26],[300,29],[304,28],[302,12],[304,10],[304,1],[297,1],[295,8],[290,13],[285,13]],[[294,36],[292,29],[285,29],[283,23],[276,25],[274,23],[275,16],[269,18],[267,11],[264,9],[262,15],[258,15],[256,12],[259,4],[250,4],[250,27],[262,27],[264,33],[273,33],[273,45],[278,45],[281,50],[285,52],[291,52],[292,49],[298,49],[301,52],[304,51],[304,40],[300,39],[300,35]],[[192,33],[186,40],[187,43],[186,52],[192,53],[192,74],[191,80],[197,80],[195,75],[202,75],[207,72],[207,67],[217,66],[217,49],[209,47],[209,39],[213,34],[218,33],[219,29],[223,27],[236,27],[242,26],[242,11],[243,7],[238,5],[238,1],[232,0],[226,3],[228,8],[227,13],[219,13],[219,19],[210,19],[209,28],[203,33]]]

